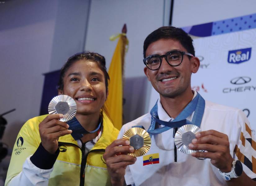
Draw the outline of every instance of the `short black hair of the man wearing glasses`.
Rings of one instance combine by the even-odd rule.
[[[158,41],[160,39],[173,39],[179,41],[181,45],[187,50],[187,52],[195,56],[195,49],[192,43],[193,39],[184,30],[173,26],[163,26],[159,29],[156,29],[146,37],[143,46],[144,58],[146,58],[146,50],[148,46],[152,42]]]

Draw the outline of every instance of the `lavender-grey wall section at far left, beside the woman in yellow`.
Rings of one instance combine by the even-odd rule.
[[[49,2],[49,1],[48,1]],[[49,71],[57,1],[5,1],[0,4],[0,113],[7,126],[3,142],[13,147],[26,120],[39,113],[43,73]]]

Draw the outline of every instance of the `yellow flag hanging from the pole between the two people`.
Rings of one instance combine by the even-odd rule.
[[[128,39],[125,33],[111,36],[110,40],[119,38],[109,67],[109,94],[106,100],[106,108],[115,128],[121,129],[123,125],[123,70],[124,55]]]

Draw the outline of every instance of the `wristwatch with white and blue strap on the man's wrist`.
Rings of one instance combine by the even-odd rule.
[[[220,175],[226,181],[229,181],[231,178],[238,178],[240,175],[242,175],[242,172],[243,172],[242,163],[239,160],[235,160],[235,159],[232,162],[231,172],[221,172],[219,170]]]

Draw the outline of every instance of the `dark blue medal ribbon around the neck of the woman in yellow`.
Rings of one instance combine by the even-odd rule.
[[[69,125],[69,130],[72,130],[72,137],[74,140],[81,139],[83,137],[83,134],[89,134],[89,133],[94,133],[98,131],[101,127],[101,122],[99,123],[97,129],[94,131],[88,132],[83,128],[83,126],[79,123],[79,121],[76,119],[76,117],[73,117],[70,121],[67,122]]]

